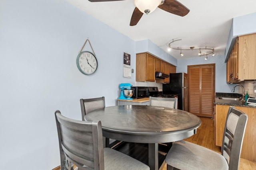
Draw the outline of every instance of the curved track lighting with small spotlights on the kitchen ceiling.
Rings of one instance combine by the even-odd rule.
[[[191,51],[193,51],[193,50],[199,50],[198,56],[201,57],[201,56],[206,55],[206,57],[204,58],[205,60],[208,59],[208,55],[210,55],[210,54],[212,54],[212,56],[215,56],[215,54],[214,54],[214,48],[213,48],[213,49],[207,48],[207,47],[205,47],[205,48],[195,48],[195,47],[193,46],[193,47],[182,48],[182,49],[181,49],[180,47],[172,47],[172,46],[171,46],[171,43],[173,43],[173,42],[175,42],[175,41],[180,41],[180,40],[181,40],[181,39],[177,39],[177,40],[172,39],[172,42],[170,42],[170,43],[168,44],[168,46],[169,46],[171,49],[180,50],[180,56],[183,56],[182,50],[191,50]]]

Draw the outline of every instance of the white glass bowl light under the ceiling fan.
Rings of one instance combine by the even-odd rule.
[[[135,6],[144,14],[149,14],[156,10],[162,0],[134,0]]]

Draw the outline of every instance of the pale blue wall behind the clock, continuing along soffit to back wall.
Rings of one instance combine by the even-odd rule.
[[[76,57],[89,38],[98,59],[91,76]],[[144,49],[142,48],[144,46]],[[87,44],[84,50],[90,50]],[[176,60],[151,41],[135,42],[64,0],[0,1],[1,163],[13,169],[50,170],[60,165],[54,111],[81,119],[80,98],[105,96],[116,105],[120,83],[135,84],[136,53],[148,51],[186,72],[204,60]],[[132,78],[123,78],[123,53]],[[210,58],[210,57],[209,57]],[[229,91],[224,56],[216,63],[216,92]]]

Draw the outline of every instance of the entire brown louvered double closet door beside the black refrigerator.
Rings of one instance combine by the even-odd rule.
[[[213,116],[215,64],[188,66],[189,112],[197,116]]]

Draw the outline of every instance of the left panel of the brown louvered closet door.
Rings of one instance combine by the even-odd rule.
[[[189,79],[189,112],[200,116],[200,67],[190,68]]]

